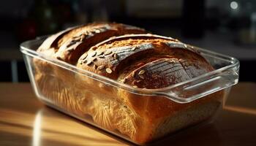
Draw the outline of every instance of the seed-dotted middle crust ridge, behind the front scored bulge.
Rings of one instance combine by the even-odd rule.
[[[197,61],[197,64],[203,64],[200,69],[207,69],[208,72],[213,70],[206,59],[191,47],[187,47],[187,45],[178,42],[176,39],[153,34],[128,34],[100,42],[80,56],[77,66],[117,80],[120,75],[122,76],[120,72],[124,69],[124,66],[141,64],[144,59],[148,59],[148,62],[151,62],[154,58]],[[130,61],[135,61],[135,63]],[[192,64],[192,62],[187,64]],[[99,66],[104,66],[104,68],[98,68]],[[203,73],[206,72],[201,72],[201,74]]]

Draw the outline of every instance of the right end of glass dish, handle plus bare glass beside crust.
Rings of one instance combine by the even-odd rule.
[[[159,95],[176,97],[178,103],[187,103],[238,83],[239,61],[236,58],[195,48],[216,70],[180,82],[172,88],[162,88]]]

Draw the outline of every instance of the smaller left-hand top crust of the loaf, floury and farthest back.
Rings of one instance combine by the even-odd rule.
[[[123,34],[143,34],[145,32],[142,28],[120,23],[91,23],[85,26],[68,28],[49,37],[39,47],[39,51],[54,48],[55,58],[69,64],[75,64],[80,55],[98,42]]]

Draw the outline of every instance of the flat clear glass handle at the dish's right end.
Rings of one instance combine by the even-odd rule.
[[[194,82],[187,82],[182,85],[177,85],[165,92],[159,92],[161,96],[165,96],[167,99],[171,99],[181,104],[185,104],[196,99],[203,98],[208,94],[221,91],[235,85],[238,82],[238,73],[222,72],[211,76],[209,79],[199,77]]]

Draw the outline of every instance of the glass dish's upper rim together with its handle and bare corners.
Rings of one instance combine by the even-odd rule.
[[[106,85],[112,85],[116,88],[123,88],[132,93],[137,93],[140,95],[159,95],[165,96],[170,100],[176,101],[178,103],[188,103],[190,101],[200,99],[209,93],[214,93],[220,91],[224,88],[235,85],[238,82],[238,71],[239,71],[239,61],[236,58],[232,58],[227,55],[222,55],[219,53],[214,53],[209,50],[204,50],[199,47],[194,47],[201,55],[203,55],[206,60],[214,66],[216,70],[209,72],[207,74],[200,75],[193,78],[192,80],[187,80],[184,82],[179,82],[175,85],[170,85],[166,88],[161,89],[140,89],[133,88],[132,86],[116,82],[115,80],[110,80],[107,77],[99,76],[93,72],[88,72],[86,70],[78,69],[76,66],[72,66],[63,61],[59,61],[55,58],[50,58],[41,53],[37,53],[37,47],[42,43],[45,38],[39,38],[36,40],[31,40],[24,42],[20,45],[21,52],[31,55],[35,58],[40,58],[44,61],[54,64],[54,66],[60,66],[63,69],[67,69],[74,74],[83,74],[87,77],[91,77],[94,80],[99,80]],[[208,85],[206,88],[206,85]],[[210,86],[211,85],[211,86]],[[197,90],[198,89],[198,90]],[[197,92],[191,92],[191,90]],[[190,95],[190,96],[184,96]]]

